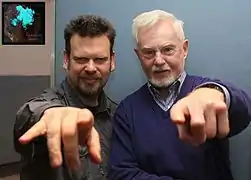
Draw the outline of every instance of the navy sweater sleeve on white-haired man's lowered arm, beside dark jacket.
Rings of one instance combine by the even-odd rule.
[[[132,125],[126,115],[123,102],[113,119],[113,135],[110,154],[110,180],[173,180],[168,176],[156,176],[140,169],[132,144]]]

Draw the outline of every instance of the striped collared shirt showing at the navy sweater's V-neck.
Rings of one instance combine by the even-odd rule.
[[[167,87],[166,95],[161,95],[159,90],[153,87],[150,82],[148,82],[149,91],[152,94],[153,99],[161,107],[161,109],[163,109],[164,111],[170,109],[180,92],[185,78],[186,72],[184,71],[174,83]]]

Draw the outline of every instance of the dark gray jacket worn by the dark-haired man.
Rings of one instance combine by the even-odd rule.
[[[71,106],[88,108],[81,102],[78,93],[67,81],[54,89],[45,90],[41,95],[32,98],[17,112],[14,125],[14,147],[21,154],[24,166],[20,172],[21,180],[106,180],[107,160],[109,156],[110,137],[112,131],[111,117],[117,104],[109,99],[104,92],[99,98],[99,106],[88,108],[94,114],[94,126],[100,135],[102,160],[100,165],[91,163],[85,147],[79,147],[82,164],[81,172],[70,171],[65,162],[57,169],[51,168],[45,137],[38,137],[27,145],[22,145],[18,139],[36,122],[43,112],[51,107]]]

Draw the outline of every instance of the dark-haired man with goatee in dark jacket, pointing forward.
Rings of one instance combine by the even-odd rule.
[[[111,23],[99,16],[79,16],[66,26],[66,79],[29,100],[16,116],[21,180],[107,179],[116,104],[103,87],[115,69],[115,36]]]

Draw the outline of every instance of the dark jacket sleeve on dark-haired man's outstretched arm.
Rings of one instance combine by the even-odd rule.
[[[26,102],[18,110],[13,138],[15,151],[21,155],[24,163],[20,172],[21,179],[56,179],[57,170],[50,167],[45,137],[38,137],[26,145],[21,144],[19,138],[40,120],[46,109],[60,106],[64,105],[59,96],[49,89]]]

